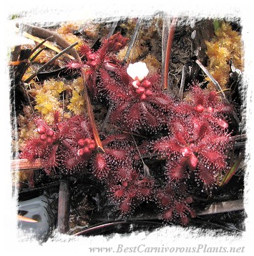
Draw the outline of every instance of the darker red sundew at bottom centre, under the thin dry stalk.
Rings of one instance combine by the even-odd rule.
[[[135,149],[128,134],[107,136],[102,141],[105,153],[92,158],[94,176],[106,185],[109,197],[122,216],[133,212],[137,205],[152,199],[155,184],[135,169]]]

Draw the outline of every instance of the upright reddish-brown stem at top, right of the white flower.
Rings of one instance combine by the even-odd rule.
[[[175,27],[177,24],[177,18],[173,18],[172,22],[170,23],[170,28],[168,31],[168,38],[167,38],[167,49],[166,49],[166,57],[165,57],[165,67],[164,67],[164,90],[168,88],[168,69],[170,67],[170,56],[172,50],[172,42],[175,34]]]

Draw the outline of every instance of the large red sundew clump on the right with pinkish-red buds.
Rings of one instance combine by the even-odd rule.
[[[189,101],[175,108],[170,134],[156,141],[154,150],[166,158],[170,181],[187,179],[194,171],[204,186],[213,186],[228,168],[230,134],[223,112],[231,108],[220,103],[217,93],[197,86],[190,95]]]

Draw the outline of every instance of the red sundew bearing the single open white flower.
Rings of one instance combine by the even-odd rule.
[[[160,76],[148,72],[143,62],[118,66],[114,75],[100,70],[100,92],[113,106],[112,123],[128,131],[155,131],[165,125],[174,101],[162,92]]]

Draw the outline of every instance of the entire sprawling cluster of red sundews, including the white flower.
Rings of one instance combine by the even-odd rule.
[[[117,32],[104,38],[96,50],[86,42],[79,44],[80,58],[66,62],[66,67],[81,74],[85,85],[77,89],[61,84],[57,100],[54,98],[58,108],[49,111],[49,120],[42,111],[37,113],[34,135],[26,139],[20,158],[41,158],[49,175],[89,169],[104,184],[122,217],[151,202],[158,217],[187,224],[195,217],[190,185],[196,184],[202,191],[216,188],[228,171],[233,106],[220,93],[197,83],[189,86],[183,100],[163,90],[160,70],[150,72],[145,62],[127,65],[117,58],[128,42]],[[73,104],[75,95],[82,98],[85,86],[90,98],[110,106],[107,124],[113,129],[105,133],[97,127],[100,143],[94,138],[96,123],[91,123],[84,100],[78,103],[84,108],[78,115],[60,108],[59,93],[72,89]],[[163,182],[144,162],[147,156],[164,163]]]

